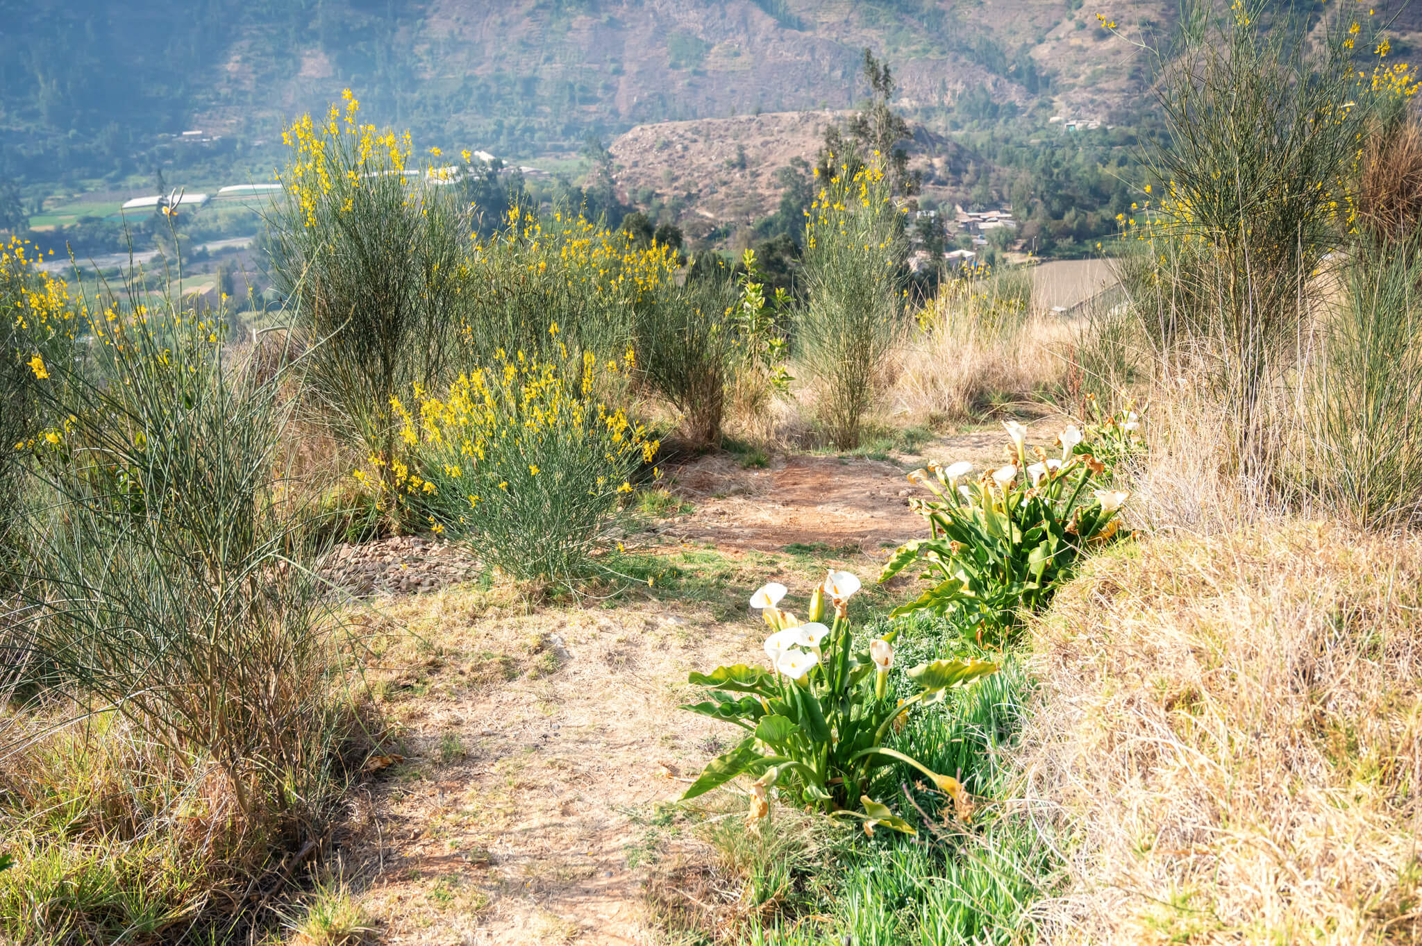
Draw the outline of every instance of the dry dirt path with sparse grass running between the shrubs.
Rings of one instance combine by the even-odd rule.
[[[1000,445],[968,435],[926,453],[990,463]],[[675,490],[694,511],[643,538],[681,578],[616,601],[532,607],[410,582],[398,554],[377,557],[401,581],[375,588],[407,591],[367,615],[371,689],[404,759],[360,793],[336,857],[381,942],[657,942],[641,825],[735,734],[677,710],[687,672],[757,662],[757,585],[805,592],[829,561],[869,584],[882,547],[920,530],[903,467],[884,462],[704,457]]]

